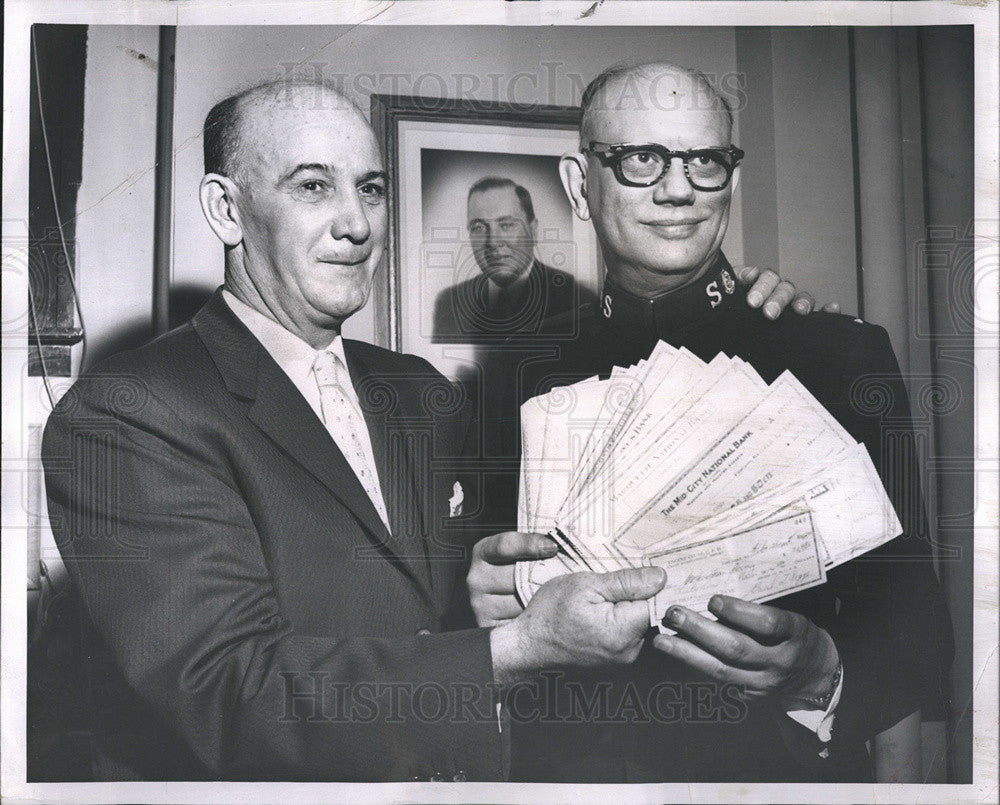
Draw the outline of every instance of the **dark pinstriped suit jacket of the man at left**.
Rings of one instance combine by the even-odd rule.
[[[464,566],[442,536],[463,401],[426,361],[345,350],[392,536],[218,293],[50,417],[56,540],[112,658],[103,775],[504,777],[489,634],[441,631]]]

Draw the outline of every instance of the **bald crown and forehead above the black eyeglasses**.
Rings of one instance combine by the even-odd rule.
[[[704,73],[669,62],[610,67],[587,85],[580,101],[580,142],[586,146],[602,124],[625,111],[709,111],[725,119],[731,133],[729,101]]]

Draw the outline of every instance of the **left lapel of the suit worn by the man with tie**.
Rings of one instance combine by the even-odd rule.
[[[399,564],[407,575],[426,587],[426,573],[414,572],[413,563],[394,552],[375,506],[326,427],[267,350],[229,309],[220,292],[199,311],[192,324],[230,393],[247,405],[247,416],[254,425],[351,510],[374,543],[373,557],[380,555]],[[375,435],[372,440],[376,441]],[[379,472],[381,477],[381,468]]]

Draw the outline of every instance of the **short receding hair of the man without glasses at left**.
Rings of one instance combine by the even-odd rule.
[[[244,111],[256,101],[277,101],[282,92],[290,92],[292,89],[333,93],[361,114],[361,110],[329,81],[281,78],[249,87],[223,98],[205,116],[205,125],[202,127],[205,173],[219,173],[239,180],[245,167],[240,164],[243,156],[240,151],[244,146],[240,126]]]

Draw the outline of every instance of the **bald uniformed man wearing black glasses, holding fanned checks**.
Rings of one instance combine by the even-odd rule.
[[[905,457],[884,455],[882,420],[852,404],[856,383],[877,375],[892,392],[887,416],[908,420],[884,330],[834,314],[770,324],[748,313],[721,251],[744,153],[711,83],[669,64],[614,68],[591,82],[582,107],[580,150],[560,171],[574,212],[593,222],[607,280],[573,348],[530,368],[525,396],[631,365],[660,339],[704,360],[725,352],[768,382],[790,370],[865,442],[891,495],[902,486],[893,472],[917,477]],[[915,533],[919,501],[893,502]],[[481,624],[516,617],[510,563],[548,541],[516,536],[476,548],[469,586]],[[952,651],[926,544],[903,536],[821,587],[768,606],[715,596],[709,609],[716,620],[672,607],[675,634],[656,636],[632,667],[546,688],[551,717],[520,727],[528,737],[514,741],[515,776],[922,779],[921,711],[944,718]]]

